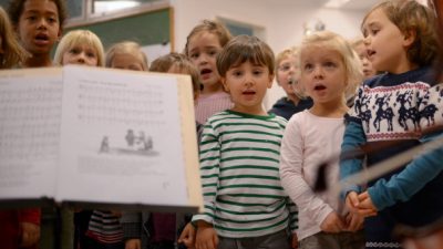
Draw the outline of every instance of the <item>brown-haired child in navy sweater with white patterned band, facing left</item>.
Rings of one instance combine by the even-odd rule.
[[[433,94],[437,86],[432,87],[435,77],[431,65],[437,54],[433,23],[434,15],[427,8],[405,0],[382,2],[363,20],[362,30],[369,59],[375,70],[385,73],[367,81],[359,90],[348,118],[342,152],[365,143],[378,146],[379,143],[388,141],[402,141],[399,146],[368,155],[369,167],[429,139],[430,137],[420,136],[419,132],[426,128],[431,117],[442,115],[443,108],[439,106],[439,97]],[[340,168],[341,178],[361,169],[361,158],[343,160]],[[403,203],[393,204],[383,199],[387,191],[381,189],[395,188],[402,184],[401,180],[393,180],[390,181],[390,186],[387,180],[406,169],[410,167],[387,174],[368,184],[369,195],[377,204],[383,206],[383,209],[380,209],[377,216],[365,219],[367,248],[400,248],[400,243],[391,237],[398,222],[422,226],[441,217],[441,173],[433,177],[424,175],[425,184],[415,188],[413,195],[406,193],[408,198],[403,198]],[[358,211],[358,193],[361,190],[361,186],[344,189],[347,206],[353,211]]]

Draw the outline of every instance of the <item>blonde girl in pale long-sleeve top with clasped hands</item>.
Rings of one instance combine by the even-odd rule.
[[[281,143],[280,177],[299,208],[299,247],[364,248],[362,219],[346,212],[339,196],[315,193],[320,164],[337,156],[344,133],[346,97],[362,80],[361,63],[340,35],[323,31],[305,38],[300,46],[300,84],[313,101],[295,114]],[[338,162],[327,168],[327,183],[339,179]]]

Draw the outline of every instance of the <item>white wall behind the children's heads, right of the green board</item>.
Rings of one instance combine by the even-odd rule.
[[[307,6],[305,1],[284,0],[172,0],[174,7],[174,51],[182,52],[186,37],[203,19],[217,17],[246,22],[265,29],[265,41],[277,54],[296,45],[303,35],[303,22],[320,19],[326,29],[347,39],[360,35],[364,11],[333,10]],[[308,1],[306,1],[308,2]],[[275,83],[265,105],[269,108],[285,92]]]

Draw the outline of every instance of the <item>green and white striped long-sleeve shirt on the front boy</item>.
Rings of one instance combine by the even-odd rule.
[[[209,117],[200,141],[205,212],[227,238],[270,235],[297,226],[297,210],[279,176],[280,143],[287,121],[224,111]]]

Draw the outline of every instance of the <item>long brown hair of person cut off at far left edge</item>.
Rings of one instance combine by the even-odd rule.
[[[20,45],[7,12],[0,7],[0,69],[11,69],[25,61],[30,54]]]

